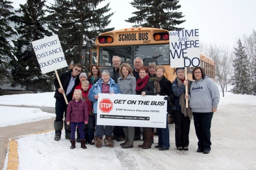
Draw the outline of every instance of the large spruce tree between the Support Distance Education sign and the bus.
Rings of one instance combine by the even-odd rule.
[[[111,10],[109,3],[97,8],[102,1],[55,0],[55,3],[49,7],[50,14],[47,16],[49,29],[59,36],[68,62],[73,60],[79,63],[82,49],[88,54],[88,45],[92,45],[89,47],[92,48],[100,33],[113,30],[113,28],[105,28],[110,24],[109,18],[113,15],[113,12],[106,14]]]

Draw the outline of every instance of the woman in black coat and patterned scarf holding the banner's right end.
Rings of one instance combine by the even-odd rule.
[[[156,66],[156,78],[154,79],[154,93],[155,95],[165,96],[164,100],[168,101],[166,108],[166,127],[156,128],[158,132],[158,145],[159,151],[169,150],[170,148],[170,135],[168,127],[168,113],[170,113],[170,101],[173,99],[172,83],[164,76],[165,68],[162,65]]]

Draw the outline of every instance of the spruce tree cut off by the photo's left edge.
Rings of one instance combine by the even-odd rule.
[[[10,83],[12,77],[9,74],[12,66],[9,60],[15,59],[15,46],[12,36],[17,35],[17,31],[10,26],[10,17],[15,14],[12,2],[0,0],[0,85]]]

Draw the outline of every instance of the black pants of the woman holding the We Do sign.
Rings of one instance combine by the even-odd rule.
[[[175,144],[176,147],[188,147],[189,144],[189,117],[185,117],[180,110],[172,110],[174,123],[175,123]]]

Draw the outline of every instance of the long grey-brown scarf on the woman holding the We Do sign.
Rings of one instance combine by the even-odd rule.
[[[180,78],[176,78],[177,81],[178,81],[178,86],[180,87],[183,83],[182,81],[180,80]],[[188,82],[188,95],[190,93],[190,83]],[[183,92],[181,95],[180,95],[180,107],[181,107],[181,113],[184,114],[185,117],[189,117],[189,120],[192,119],[192,112],[191,112],[191,109],[190,107],[186,107],[186,102],[184,100],[185,98],[185,93]]]

